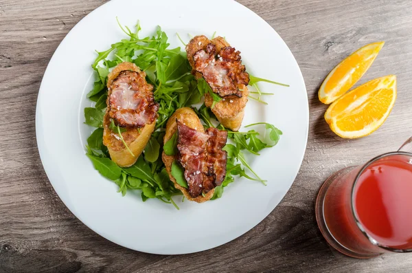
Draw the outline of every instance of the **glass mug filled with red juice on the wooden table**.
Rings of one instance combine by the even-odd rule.
[[[367,259],[412,251],[412,138],[399,151],[331,175],[321,186],[316,218],[336,250]]]

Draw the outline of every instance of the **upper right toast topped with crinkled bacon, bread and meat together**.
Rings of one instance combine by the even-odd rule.
[[[187,59],[197,79],[204,78],[211,90],[222,100],[214,105],[210,94],[205,94],[205,105],[226,128],[238,131],[242,125],[249,90],[249,74],[240,59],[240,52],[218,36],[209,40],[195,36],[186,45]]]

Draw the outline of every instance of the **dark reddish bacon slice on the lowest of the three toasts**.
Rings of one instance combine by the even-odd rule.
[[[197,197],[203,192],[222,184],[226,176],[227,153],[222,151],[226,144],[227,131],[215,128],[206,133],[196,131],[177,121],[178,160],[185,169],[189,193]]]

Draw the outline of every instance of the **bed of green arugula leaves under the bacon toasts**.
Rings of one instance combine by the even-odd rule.
[[[94,107],[84,108],[84,123],[96,129],[87,139],[86,154],[93,163],[94,168],[101,175],[117,184],[119,187],[118,192],[122,195],[126,195],[128,190],[139,190],[143,201],[156,198],[165,203],[173,204],[179,209],[172,197],[182,195],[182,193],[174,188],[174,184],[170,181],[168,172],[161,160],[163,151],[166,155],[176,155],[177,133],[174,133],[172,138],[163,146],[165,124],[176,109],[198,104],[205,94],[211,95],[214,99],[214,105],[222,98],[211,91],[205,80],[196,80],[194,78],[191,74],[192,68],[187,61],[186,53],[180,47],[169,49],[168,36],[160,27],[157,27],[153,36],[144,38],[139,36],[141,30],[139,22],[135,26],[135,32],[132,32],[127,26],[123,27],[120,23],[119,27],[128,36],[128,39],[113,43],[108,50],[97,52],[98,56],[91,65],[97,77],[93,89],[87,94],[87,98],[95,102],[95,105]],[[108,150],[102,142],[103,117],[107,107],[107,76],[111,68],[124,61],[135,63],[146,72],[146,80],[155,87],[155,100],[160,106],[155,132],[152,133],[144,153],[139,156],[133,166],[128,168],[117,166],[110,159]],[[255,98],[257,100],[260,100],[260,96],[266,95],[258,89],[257,83],[259,81],[275,83],[251,76],[251,85],[258,90],[257,92],[251,92],[251,94],[258,94],[258,98]],[[203,120],[205,128],[214,127],[214,124],[217,124],[218,129],[225,129],[221,124],[218,124],[216,117],[210,109],[205,107],[205,104],[199,109],[194,108],[194,111]],[[247,157],[251,154],[259,155],[262,149],[277,144],[282,131],[272,124],[262,122],[250,124],[249,126],[256,128],[264,126],[266,133],[260,135],[258,131],[253,129],[247,132],[227,130],[228,144],[224,147],[228,154],[227,175],[222,185],[216,187],[212,199],[221,197],[223,188],[232,183],[235,176],[246,177],[265,184],[265,180],[259,177],[247,163]],[[113,133],[119,135],[126,149],[128,149],[122,136],[125,129],[116,126],[114,122],[109,128]],[[130,149],[128,151],[133,155]],[[187,188],[184,170],[177,161],[173,162],[171,173],[180,186]]]

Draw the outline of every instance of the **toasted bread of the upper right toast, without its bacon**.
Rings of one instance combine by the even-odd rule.
[[[186,46],[187,59],[189,60],[190,65],[192,66],[192,72],[197,79],[202,78],[202,74],[196,72],[194,69],[194,54],[199,50],[205,50],[209,43],[216,45],[216,51],[220,52],[222,47],[230,46],[227,41],[218,36],[215,39],[209,40],[204,35],[195,36]],[[249,95],[249,90],[246,85],[238,85],[242,93],[242,97],[238,96],[227,96],[220,102],[216,103],[211,111],[218,118],[219,122],[226,128],[231,129],[232,131],[238,131],[242,125],[242,120],[244,117],[244,108],[247,103],[247,96]],[[210,94],[205,94],[205,105],[211,107],[213,105],[213,98]]]

